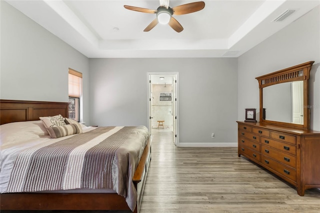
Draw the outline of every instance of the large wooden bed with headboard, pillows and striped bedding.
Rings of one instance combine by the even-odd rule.
[[[45,118],[58,115],[63,117],[67,125],[63,127],[54,125],[52,128],[43,126]],[[39,120],[39,117],[43,119]],[[146,127],[84,126],[77,122],[70,122],[67,117],[67,102],[0,100],[2,152],[0,209],[139,212],[151,159],[151,136]],[[12,140],[14,144],[11,144],[10,140],[14,136],[3,136],[16,135],[15,137],[21,138],[21,135],[14,133],[15,129],[28,129],[29,125],[36,129],[34,131],[41,132],[37,133],[40,136],[37,135],[34,139],[33,130],[31,130],[31,136],[30,131],[25,133],[24,130],[19,130],[28,140],[22,141],[23,143],[21,141],[14,143],[15,140]],[[61,133],[61,129],[66,126],[72,128],[73,133]],[[13,134],[4,134],[7,132],[6,129],[14,129]],[[66,130],[66,132],[71,131]],[[97,141],[97,138],[100,140]],[[9,142],[4,143],[4,141]],[[76,143],[79,144],[75,146]],[[89,147],[87,147],[88,144],[90,144]],[[127,146],[134,148],[128,151]],[[75,149],[82,150],[82,157],[78,157]],[[11,152],[12,150],[15,152]],[[105,152],[110,155],[101,153],[102,150],[107,150]],[[127,152],[122,153],[119,150]],[[38,152],[42,155],[28,156],[29,153],[38,154]],[[56,156],[54,153],[57,152],[63,154],[66,152],[69,155]],[[47,157],[48,155],[50,156]],[[43,160],[47,158],[49,159]],[[83,166],[81,168],[73,164],[79,159],[80,165]],[[121,161],[124,163],[120,163]],[[60,169],[61,166],[52,166],[55,163],[66,165],[63,167],[66,170]],[[19,164],[24,166],[18,167]],[[98,170],[101,167],[103,172]],[[44,171],[43,168],[45,168]],[[58,171],[54,169],[62,170],[59,172],[63,175],[55,174]],[[75,174],[80,175],[75,176]],[[6,176],[9,176],[9,179],[6,179]],[[50,178],[53,180],[48,180]]]

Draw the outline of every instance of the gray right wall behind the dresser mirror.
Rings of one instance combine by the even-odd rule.
[[[314,60],[309,79],[310,127],[320,130],[319,38],[320,6],[317,6],[238,57],[238,120],[244,120],[244,108],[259,108],[255,77]]]

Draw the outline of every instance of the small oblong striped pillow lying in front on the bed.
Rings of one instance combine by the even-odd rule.
[[[65,124],[61,126],[52,126],[46,128],[52,138],[63,137],[71,134],[82,133],[79,123]]]

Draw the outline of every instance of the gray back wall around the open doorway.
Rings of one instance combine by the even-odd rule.
[[[237,141],[236,58],[91,58],[94,124],[147,125],[147,72],[178,72],[180,143]]]

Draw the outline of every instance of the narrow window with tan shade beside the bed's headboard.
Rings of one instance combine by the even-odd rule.
[[[80,121],[80,99],[82,98],[82,73],[69,68],[69,118]]]

